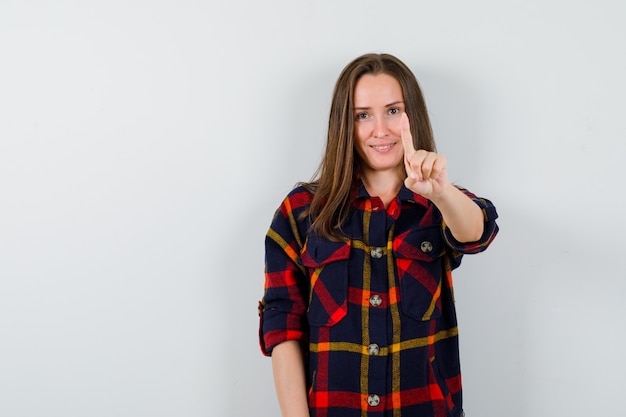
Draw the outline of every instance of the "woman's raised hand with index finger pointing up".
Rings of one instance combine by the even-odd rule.
[[[404,185],[414,193],[431,200],[441,196],[450,185],[446,157],[424,149],[415,150],[406,113],[402,113],[400,123],[404,166],[407,173]]]

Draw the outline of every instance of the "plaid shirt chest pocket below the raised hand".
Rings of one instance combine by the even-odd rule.
[[[401,308],[416,320],[441,316],[444,251],[440,225],[412,229],[393,240]]]

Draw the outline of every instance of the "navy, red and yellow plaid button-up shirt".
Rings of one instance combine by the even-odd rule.
[[[461,190],[485,217],[478,242],[456,241],[439,210],[404,186],[385,209],[360,183],[341,242],[309,231],[303,187],[276,211],[261,350],[303,344],[312,417],[463,415],[451,271],[485,250],[498,226],[490,201]]]

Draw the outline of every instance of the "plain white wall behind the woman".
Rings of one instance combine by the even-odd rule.
[[[501,233],[455,275],[468,417],[625,415],[626,3],[0,3],[0,415],[278,416],[263,240],[339,72],[415,72]]]

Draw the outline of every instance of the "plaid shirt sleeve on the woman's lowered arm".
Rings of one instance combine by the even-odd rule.
[[[287,340],[308,342],[306,275],[300,262],[296,219],[285,202],[265,238],[265,293],[259,302],[259,342],[264,355]]]

